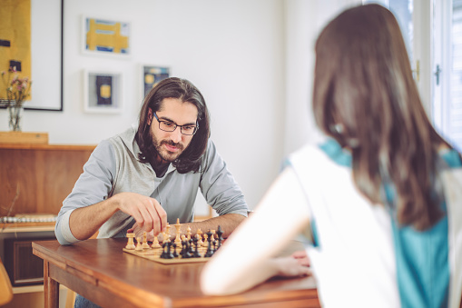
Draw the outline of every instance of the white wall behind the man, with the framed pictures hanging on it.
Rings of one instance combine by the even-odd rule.
[[[40,0],[44,16],[46,1]],[[132,22],[133,57],[82,55],[82,15]],[[139,65],[170,65],[172,75],[202,91],[211,138],[253,206],[282,159],[283,20],[280,0],[65,0],[64,112],[25,111],[23,131],[48,132],[50,144],[97,144],[136,121]],[[123,114],[84,113],[84,68],[123,72]],[[6,130],[0,110],[0,131]]]

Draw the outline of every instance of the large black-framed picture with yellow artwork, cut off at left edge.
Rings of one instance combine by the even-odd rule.
[[[0,20],[0,29],[5,30],[3,36],[0,35],[0,59],[5,64],[0,71],[7,72],[11,60],[15,59],[22,68],[20,76],[32,80],[31,96],[25,101],[25,110],[63,111],[64,0],[48,0],[44,3],[35,0],[30,3],[15,1],[12,4],[2,6],[2,10],[5,8],[3,13],[15,15],[17,12],[10,10],[14,10],[16,5],[21,9],[28,5],[30,23],[22,18],[14,18],[22,27],[16,28],[16,24],[8,24],[10,18]],[[24,27],[30,36],[19,31]],[[24,58],[25,55],[28,55],[27,58]],[[0,80],[0,84],[3,86],[3,81]],[[6,108],[5,98],[0,95],[0,108]]]

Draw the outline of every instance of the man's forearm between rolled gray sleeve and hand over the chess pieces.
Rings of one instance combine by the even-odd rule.
[[[114,199],[109,198],[98,204],[75,209],[69,217],[69,227],[77,240],[90,238],[117,212]]]

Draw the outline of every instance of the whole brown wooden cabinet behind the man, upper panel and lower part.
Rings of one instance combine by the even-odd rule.
[[[0,217],[58,214],[94,147],[0,143]],[[15,286],[43,282],[37,238],[54,239],[54,222],[0,224],[0,257]]]

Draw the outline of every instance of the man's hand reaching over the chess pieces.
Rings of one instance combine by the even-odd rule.
[[[157,235],[165,229],[167,213],[154,198],[135,193],[115,194],[113,198],[118,209],[131,215],[136,225],[143,231],[147,233],[152,231],[153,235]]]

